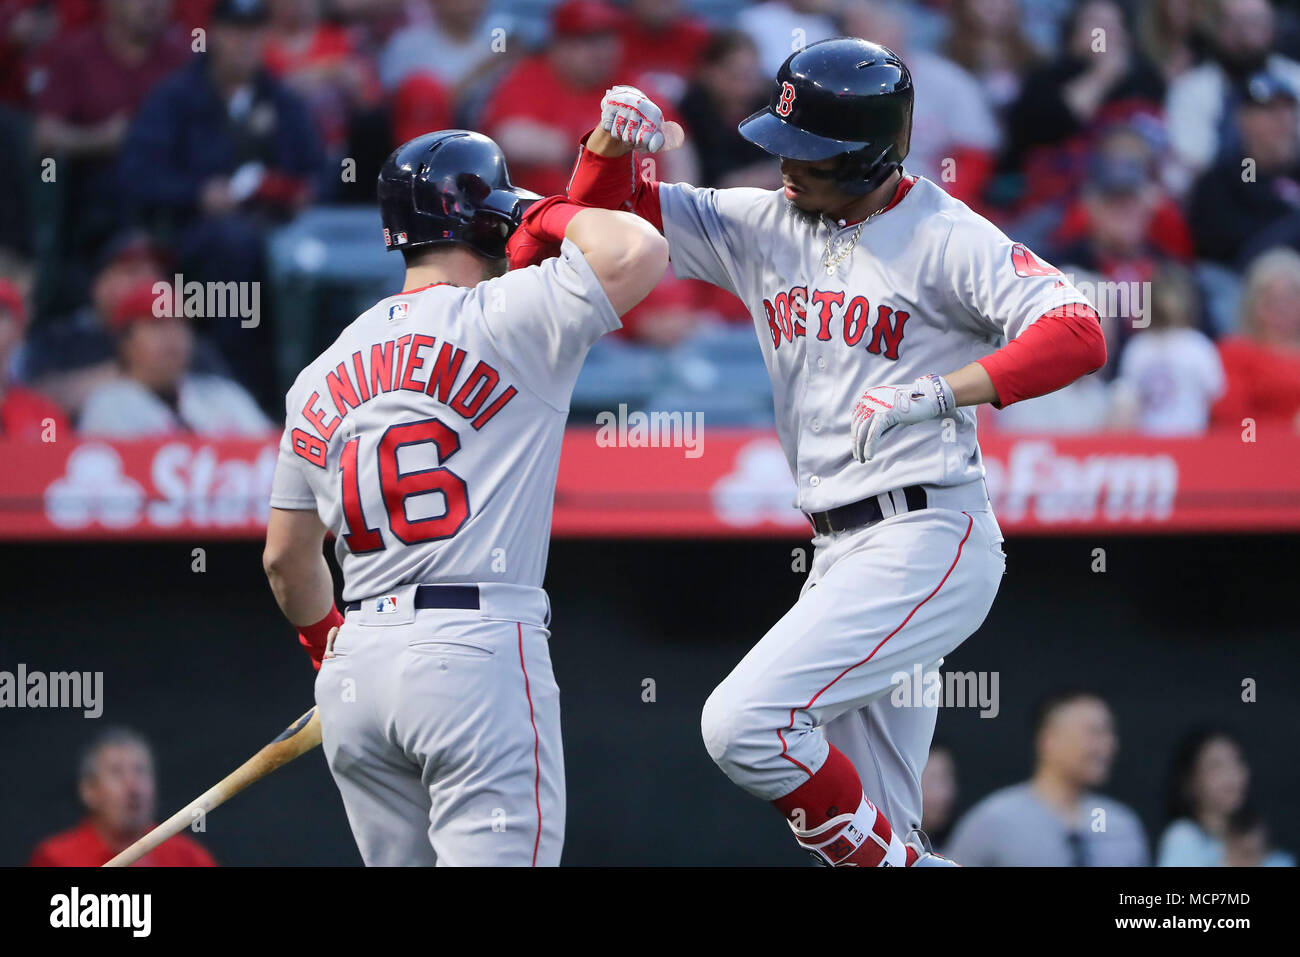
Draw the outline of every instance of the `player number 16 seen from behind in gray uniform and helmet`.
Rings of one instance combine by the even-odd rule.
[[[399,147],[380,205],[403,291],[286,399],[264,563],[318,668],[325,757],[367,865],[560,859],[541,588],[560,443],[588,350],[659,280],[667,243],[630,213],[537,199],[486,137]]]

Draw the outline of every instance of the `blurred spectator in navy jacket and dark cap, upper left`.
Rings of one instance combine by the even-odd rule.
[[[326,181],[306,104],[263,68],[264,0],[217,0],[208,53],[140,107],[122,150],[122,183],[172,234],[186,281],[260,282],[264,237]],[[268,325],[214,322],[239,378],[269,393]]]

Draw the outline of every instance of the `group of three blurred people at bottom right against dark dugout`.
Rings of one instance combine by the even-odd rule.
[[[1106,701],[1057,692],[1034,711],[1031,771],[957,817],[957,757],[935,742],[922,775],[924,830],[974,867],[1294,867],[1251,794],[1242,741],[1226,728],[1186,733],[1165,779],[1154,853],[1138,814],[1102,793],[1119,748]]]

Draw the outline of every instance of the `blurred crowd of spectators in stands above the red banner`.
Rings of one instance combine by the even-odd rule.
[[[269,429],[292,356],[311,355],[291,321],[309,302],[294,269],[326,254],[303,235],[351,211],[339,222],[382,259],[374,176],[419,133],[482,130],[516,182],[556,192],[604,90],[632,83],[688,130],[685,148],[647,157],[658,178],[776,187],[776,164],[736,124],[792,46],[838,34],[910,65],[907,170],[1061,267],[1104,313],[1106,367],[992,413],[993,428],[1300,428],[1290,3],[10,0],[3,434],[51,420],[117,437]],[[151,290],[177,276],[266,291],[237,317],[160,317]],[[351,315],[304,321],[333,324],[324,343]],[[576,407],[632,399],[762,424],[749,321],[729,294],[670,276],[593,355]],[[701,373],[737,356],[753,374],[728,381],[749,404]]]

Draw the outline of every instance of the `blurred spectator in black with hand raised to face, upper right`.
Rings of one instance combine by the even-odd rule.
[[[1084,0],[1065,23],[1062,49],[1030,73],[1008,114],[1004,165],[1023,172],[1023,203],[1069,190],[1088,137],[1134,113],[1156,112],[1164,83],[1138,49],[1114,0]]]

